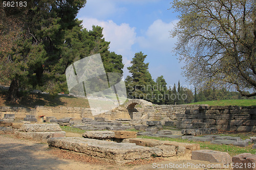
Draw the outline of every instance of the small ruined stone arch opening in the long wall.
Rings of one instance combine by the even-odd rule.
[[[142,112],[138,113],[138,110],[136,108],[134,108],[136,105],[140,105],[141,110],[143,112],[143,110],[146,108],[146,106],[152,105],[152,103],[147,102],[147,101],[142,100],[142,99],[131,99],[131,100],[129,100],[124,105],[124,107],[128,110],[131,119],[135,119],[136,117],[138,117],[138,116],[135,116],[135,114],[142,114]],[[137,112],[137,113],[134,113],[134,112]],[[139,117],[141,117],[141,116],[139,116]]]

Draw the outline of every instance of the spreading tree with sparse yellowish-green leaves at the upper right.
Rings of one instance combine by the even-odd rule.
[[[175,0],[173,8],[180,13],[172,34],[186,63],[183,74],[202,88],[234,87],[256,95],[256,2]]]

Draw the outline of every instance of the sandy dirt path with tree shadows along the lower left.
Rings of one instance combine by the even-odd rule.
[[[111,165],[109,162],[100,161],[81,153],[54,148],[49,149],[47,143],[40,143],[27,139],[17,139],[12,135],[0,135],[0,169],[205,169],[191,167],[161,168],[161,165],[166,166],[170,163],[209,164],[209,162],[195,161],[191,159],[184,160],[184,158],[170,157],[168,159],[155,158],[152,160],[138,160],[137,162],[133,162],[133,164]],[[156,168],[156,166],[159,168]]]

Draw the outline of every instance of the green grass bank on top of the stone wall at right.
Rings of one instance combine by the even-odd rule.
[[[207,104],[209,106],[256,106],[256,99],[251,100],[220,100],[220,101],[204,101],[189,103],[188,105],[201,105]]]

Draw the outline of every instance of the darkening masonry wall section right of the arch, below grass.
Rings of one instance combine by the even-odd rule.
[[[193,128],[193,123],[209,123],[210,128],[222,131],[256,132],[256,107],[162,105],[147,106],[143,114],[180,129]]]

